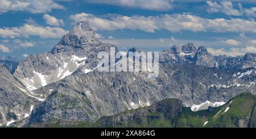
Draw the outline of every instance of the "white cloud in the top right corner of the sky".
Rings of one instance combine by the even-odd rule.
[[[256,7],[251,7],[250,9],[244,9],[241,3],[238,3],[238,9],[234,9],[231,1],[221,1],[220,3],[207,1],[209,8],[207,11],[209,13],[212,12],[220,12],[226,15],[232,16],[253,16],[256,17]]]

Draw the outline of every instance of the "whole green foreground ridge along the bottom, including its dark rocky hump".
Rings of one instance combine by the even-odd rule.
[[[53,119],[28,127],[256,127],[255,104],[256,95],[247,93],[223,106],[193,112],[182,107],[181,100],[165,99],[148,107],[101,117],[95,123]]]

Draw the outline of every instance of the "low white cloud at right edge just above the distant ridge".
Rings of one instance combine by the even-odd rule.
[[[240,56],[244,55],[246,53],[256,53],[256,48],[254,46],[248,46],[243,48],[230,48],[229,50],[221,49],[213,49],[213,48],[207,48],[208,52],[213,54],[214,56],[219,55],[226,55],[226,56]]]

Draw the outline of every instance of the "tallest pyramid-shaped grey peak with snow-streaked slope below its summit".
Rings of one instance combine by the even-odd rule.
[[[31,55],[14,72],[27,91],[59,81],[75,71],[85,73],[97,67],[97,53],[109,52],[112,44],[95,37],[88,22],[79,22],[49,53]]]

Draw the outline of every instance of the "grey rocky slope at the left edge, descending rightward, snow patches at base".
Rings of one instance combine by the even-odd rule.
[[[0,125],[11,124],[28,117],[34,100],[21,91],[20,85],[13,75],[0,65]]]

